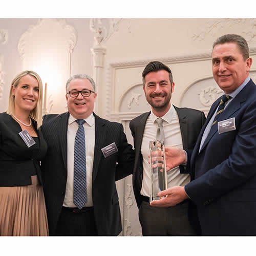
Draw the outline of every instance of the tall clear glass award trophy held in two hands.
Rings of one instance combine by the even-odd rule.
[[[150,141],[150,172],[151,191],[150,202],[161,199],[157,194],[167,189],[167,172],[165,164],[164,144],[160,141]]]

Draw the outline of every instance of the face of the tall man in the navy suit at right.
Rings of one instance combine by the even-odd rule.
[[[212,50],[212,74],[227,94],[236,90],[249,74],[252,59],[244,60],[236,42],[216,45]]]

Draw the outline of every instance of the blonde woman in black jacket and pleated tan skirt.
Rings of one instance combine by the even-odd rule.
[[[8,110],[0,114],[0,235],[48,236],[40,160],[47,144],[42,123],[42,82],[24,71],[12,81]]]

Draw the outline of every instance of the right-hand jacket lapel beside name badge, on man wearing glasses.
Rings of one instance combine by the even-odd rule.
[[[94,113],[93,113],[94,114]],[[101,148],[105,141],[107,131],[105,120],[94,114],[95,117],[95,145],[93,158],[93,181],[95,180],[99,168],[100,159],[103,156]]]

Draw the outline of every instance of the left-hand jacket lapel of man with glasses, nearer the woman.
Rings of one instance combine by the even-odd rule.
[[[67,153],[67,134],[68,134],[68,121],[69,121],[69,112],[63,113],[59,115],[59,120],[57,124],[57,133],[58,133],[58,140],[59,140],[59,145],[61,149],[61,154],[62,154],[62,159],[64,166],[66,168],[67,172],[67,158],[68,158],[68,153]]]

